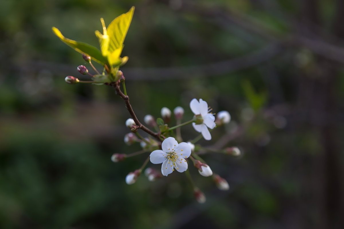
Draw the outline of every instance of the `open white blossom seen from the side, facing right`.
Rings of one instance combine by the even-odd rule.
[[[200,99],[198,102],[196,99],[191,100],[190,109],[195,115],[200,115],[203,119],[202,124],[192,123],[193,128],[202,133],[202,136],[205,140],[211,140],[212,136],[208,128],[213,129],[215,124],[215,116],[212,113],[208,113],[208,104],[204,100]]]

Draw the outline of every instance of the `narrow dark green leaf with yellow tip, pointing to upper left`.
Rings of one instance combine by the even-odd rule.
[[[89,55],[90,57],[92,57],[92,59],[94,59],[100,64],[104,65],[107,62],[107,59],[103,55],[101,55],[100,50],[97,49],[96,47],[84,42],[78,42],[78,41],[68,39],[64,37],[62,33],[60,32],[60,30],[58,30],[58,28],[56,27],[52,27],[52,30],[55,33],[55,35],[61,39],[61,41],[66,43],[68,46],[72,47],[77,52],[81,54]]]

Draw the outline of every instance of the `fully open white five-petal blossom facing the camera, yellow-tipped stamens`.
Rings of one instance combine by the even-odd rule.
[[[154,150],[150,154],[150,161],[153,164],[161,165],[161,173],[164,176],[172,173],[174,168],[178,172],[184,172],[187,170],[187,162],[185,158],[188,158],[191,154],[191,148],[186,142],[178,142],[173,137],[166,138],[161,144],[162,150]]]

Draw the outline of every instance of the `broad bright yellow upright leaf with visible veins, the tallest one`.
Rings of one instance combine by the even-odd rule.
[[[115,18],[108,26],[107,33],[109,35],[109,52],[112,53],[123,45],[124,39],[127,35],[132,15],[134,14],[135,7],[127,13],[123,13]],[[120,55],[120,54],[119,54]]]

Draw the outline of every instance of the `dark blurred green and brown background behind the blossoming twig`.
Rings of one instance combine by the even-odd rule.
[[[200,141],[243,152],[204,156],[230,190],[190,166],[203,205],[184,174],[127,185],[147,155],[110,160],[140,149],[123,101],[64,82],[86,64],[51,27],[98,46],[99,18],[132,5],[121,70],[138,118],[183,106],[187,121],[192,98],[232,115]],[[342,228],[343,25],[342,0],[0,1],[0,228]]]

